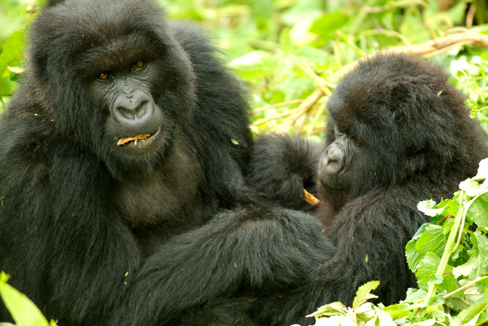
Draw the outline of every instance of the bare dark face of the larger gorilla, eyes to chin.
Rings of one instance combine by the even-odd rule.
[[[110,111],[107,132],[113,135],[114,146],[129,153],[140,153],[151,147],[162,129],[162,116],[150,92],[151,62],[136,59],[123,70],[103,70],[91,84]],[[121,138],[147,135],[118,145]]]

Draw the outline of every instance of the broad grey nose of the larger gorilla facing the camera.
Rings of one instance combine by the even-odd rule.
[[[119,124],[139,127],[154,117],[154,101],[142,92],[120,94],[114,101],[112,115]]]

